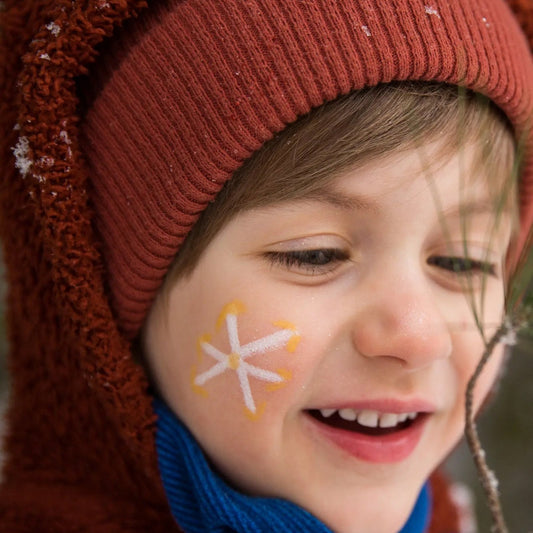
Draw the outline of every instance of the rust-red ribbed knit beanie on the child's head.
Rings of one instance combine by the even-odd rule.
[[[223,184],[313,107],[382,82],[427,80],[487,94],[519,134],[533,109],[529,45],[502,0],[158,2],[115,39],[94,76],[85,153],[128,336]],[[532,176],[529,160],[523,235]]]

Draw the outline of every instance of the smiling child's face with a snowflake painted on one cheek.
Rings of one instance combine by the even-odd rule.
[[[494,228],[473,153],[428,171],[405,151],[243,212],[156,303],[156,382],[232,484],[335,531],[401,528],[463,432],[483,351],[472,304],[487,336],[502,318],[510,217]]]

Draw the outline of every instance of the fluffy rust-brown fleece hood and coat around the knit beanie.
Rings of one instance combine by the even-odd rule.
[[[531,30],[530,3],[512,4]],[[147,379],[110,307],[76,94],[96,47],[145,2],[0,5],[11,373],[0,532],[179,531],[157,472]],[[446,483],[434,477],[433,488],[431,533],[456,533]]]

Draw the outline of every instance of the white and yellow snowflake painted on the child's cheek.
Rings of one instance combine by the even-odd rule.
[[[211,335],[205,334],[198,339],[198,352],[201,359],[203,354],[212,357],[216,362],[211,368],[200,374],[193,368],[192,388],[202,396],[207,396],[207,391],[203,388],[209,380],[227,371],[237,374],[239,385],[242,390],[245,412],[251,419],[257,419],[262,414],[264,405],[256,406],[250,387],[250,377],[268,383],[267,390],[276,390],[286,384],[291,378],[290,371],[279,369],[276,372],[266,370],[250,364],[247,359],[272,352],[285,347],[288,352],[294,352],[300,340],[300,335],[296,328],[289,322],[275,322],[274,326],[280,328],[278,331],[255,339],[247,344],[241,345],[239,339],[239,328],[237,316],[245,312],[244,305],[239,301],[234,301],[226,305],[217,320],[216,329],[220,329],[226,324],[228,341],[230,345],[229,353],[224,353],[210,343]]]

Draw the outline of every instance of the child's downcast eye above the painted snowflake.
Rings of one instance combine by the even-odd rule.
[[[275,251],[267,252],[265,256],[273,264],[311,275],[331,272],[338,263],[350,258],[348,252],[338,248]]]

